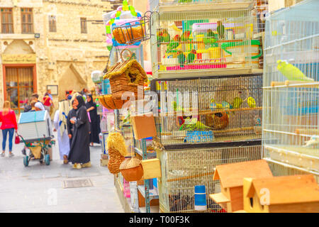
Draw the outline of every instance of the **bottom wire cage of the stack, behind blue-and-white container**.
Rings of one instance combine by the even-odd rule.
[[[216,165],[259,160],[261,145],[237,148],[196,150],[157,150],[162,178],[158,182],[159,206],[164,212],[197,212],[194,187],[206,187],[206,212],[225,212],[209,194],[220,192],[220,182],[213,181]]]

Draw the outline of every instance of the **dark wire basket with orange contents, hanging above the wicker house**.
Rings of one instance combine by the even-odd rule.
[[[121,26],[113,26],[112,33],[116,41],[120,44],[132,45],[149,40],[151,37],[150,19],[151,11],[147,11],[138,20],[129,21]]]

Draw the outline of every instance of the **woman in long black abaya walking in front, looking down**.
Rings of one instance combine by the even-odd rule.
[[[70,119],[74,126],[74,134],[69,151],[69,162],[72,162],[74,168],[81,169],[82,167],[91,167],[90,124],[82,96],[77,96],[74,99],[74,106],[77,106],[77,114],[75,119]]]

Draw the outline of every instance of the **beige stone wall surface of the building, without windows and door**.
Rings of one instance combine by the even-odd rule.
[[[94,87],[91,72],[103,70],[108,57],[105,28],[87,22],[87,33],[81,33],[80,18],[102,20],[111,10],[111,3],[101,0],[1,0],[0,7],[13,7],[14,34],[0,34],[0,55],[33,50],[37,56],[38,94],[43,96],[47,85],[59,85],[59,96],[53,96],[55,106],[64,98],[65,90]],[[33,8],[34,34],[21,34],[21,7]],[[49,32],[49,15],[57,18],[57,32]],[[4,45],[4,43],[12,44]],[[30,44],[32,42],[32,44]],[[23,46],[23,48],[21,48]],[[1,59],[0,59],[1,65]],[[72,73],[71,73],[72,72]],[[69,77],[69,74],[71,75]],[[4,101],[0,70],[0,106]],[[81,85],[81,88],[80,88]]]

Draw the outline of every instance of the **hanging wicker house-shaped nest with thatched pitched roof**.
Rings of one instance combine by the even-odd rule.
[[[124,50],[121,52],[122,60]],[[113,65],[103,77],[103,79],[110,80],[113,99],[121,99],[124,92],[133,92],[135,94],[135,99],[138,99],[138,86],[141,86],[143,92],[144,82],[147,81],[147,74],[140,63],[131,58],[132,53],[129,60],[123,60],[123,62],[116,63],[116,65]],[[142,99],[143,96],[139,98]]]

